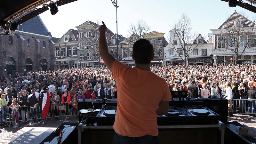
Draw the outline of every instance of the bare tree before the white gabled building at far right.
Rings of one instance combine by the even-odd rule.
[[[237,64],[244,51],[250,49],[248,43],[252,36],[255,36],[255,26],[255,17],[253,21],[250,21],[243,12],[241,14],[234,12],[219,28],[221,34],[217,35],[217,48],[221,48],[226,52],[234,52],[234,60],[235,64]]]

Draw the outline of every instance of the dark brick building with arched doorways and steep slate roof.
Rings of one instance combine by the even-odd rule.
[[[1,35],[0,74],[54,69],[53,41],[56,38],[39,16],[20,24],[10,35]]]

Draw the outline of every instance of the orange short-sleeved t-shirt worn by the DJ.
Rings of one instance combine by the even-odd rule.
[[[160,101],[172,96],[166,81],[151,71],[131,68],[115,60],[112,75],[118,84],[116,133],[140,137],[157,136],[156,109]]]

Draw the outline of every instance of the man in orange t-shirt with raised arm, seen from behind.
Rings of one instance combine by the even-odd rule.
[[[118,84],[113,143],[158,143],[157,115],[165,115],[172,98],[163,78],[150,71],[153,46],[146,39],[133,44],[135,68],[115,60],[108,53],[107,27],[99,28],[100,56]]]

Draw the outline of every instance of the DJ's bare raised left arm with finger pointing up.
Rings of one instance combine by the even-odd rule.
[[[99,40],[99,50],[100,50],[100,56],[104,60],[106,66],[110,71],[112,71],[112,63],[116,59],[108,53],[108,44],[106,40],[106,32],[107,32],[107,27],[105,23],[102,21],[102,25],[99,28],[100,31],[100,40]]]

